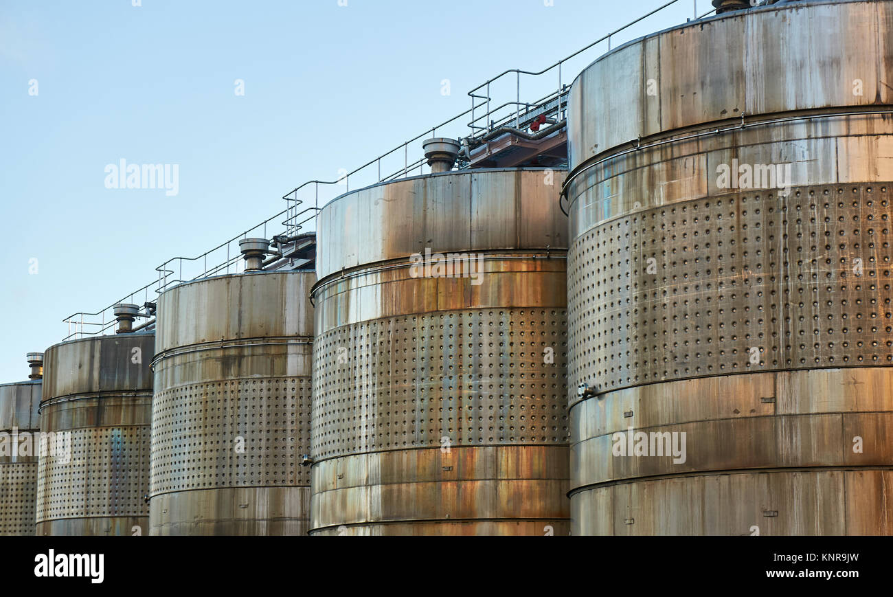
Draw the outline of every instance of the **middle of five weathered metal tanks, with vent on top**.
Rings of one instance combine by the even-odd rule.
[[[243,246],[258,266],[263,250]],[[259,271],[159,298],[152,534],[307,533],[314,282]]]

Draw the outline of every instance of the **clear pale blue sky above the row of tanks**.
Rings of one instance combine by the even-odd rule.
[[[546,68],[665,3],[0,0],[0,383],[27,378],[25,353],[62,341],[66,315],[462,113],[498,73]],[[680,0],[613,46],[693,12]],[[606,50],[568,63],[564,80]],[[524,80],[522,99],[557,87],[547,79]],[[506,82],[494,101],[513,99]],[[121,160],[169,164],[171,182],[176,166],[177,189],[107,188]]]

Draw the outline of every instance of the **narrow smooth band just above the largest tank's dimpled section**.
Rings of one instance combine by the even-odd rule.
[[[571,237],[618,217],[704,197],[728,195],[718,188],[722,167],[773,164],[786,167],[791,187],[877,183],[893,179],[890,114],[807,117],[737,130],[726,135],[667,139],[588,168],[568,188]],[[761,177],[762,180],[762,177]],[[778,189],[764,189],[778,197]]]

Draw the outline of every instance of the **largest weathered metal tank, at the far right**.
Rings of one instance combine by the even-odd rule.
[[[728,13],[575,81],[573,534],[893,534],[891,29]]]

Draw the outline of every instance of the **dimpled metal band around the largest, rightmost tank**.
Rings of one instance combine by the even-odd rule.
[[[573,378],[893,364],[890,203],[883,185],[746,192],[589,231],[569,261]]]

